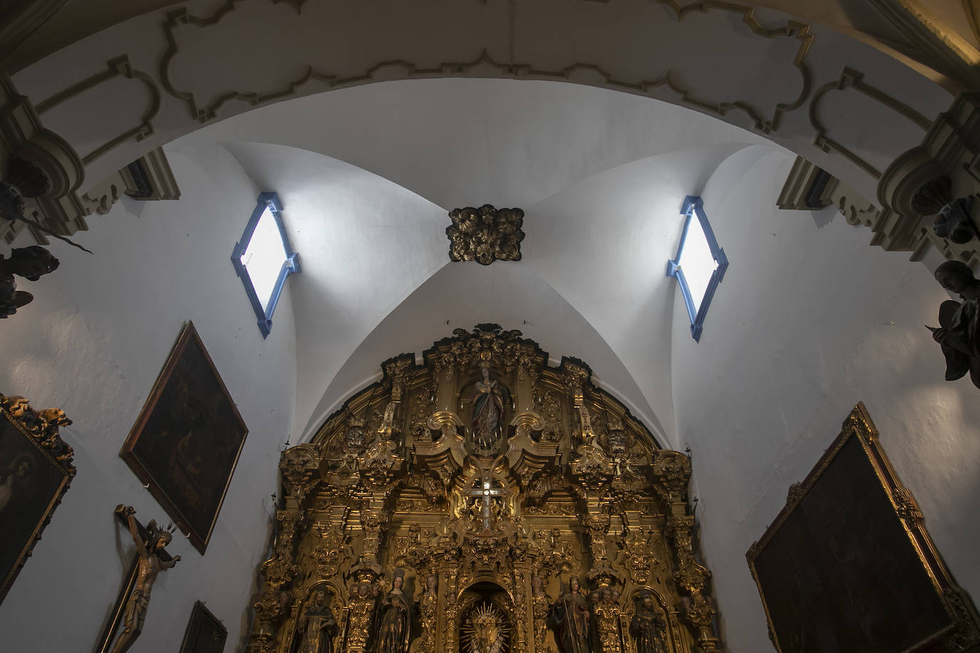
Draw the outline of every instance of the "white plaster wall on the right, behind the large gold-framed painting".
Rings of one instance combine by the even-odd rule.
[[[957,583],[980,593],[980,391],[943,380],[923,328],[946,293],[924,265],[869,248],[840,217],[776,210],[793,158],[748,156],[708,183],[706,210],[731,265],[701,343],[676,295],[672,350],[675,418],[693,450],[702,546],[731,653],[772,650],[745,552],[858,400]]]

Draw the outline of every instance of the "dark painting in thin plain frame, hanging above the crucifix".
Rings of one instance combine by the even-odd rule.
[[[187,322],[120,456],[204,555],[247,435]]]

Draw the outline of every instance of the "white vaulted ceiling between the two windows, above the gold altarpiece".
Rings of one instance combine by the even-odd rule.
[[[170,147],[206,142],[279,193],[300,252],[289,292],[304,437],[387,356],[419,353],[453,327],[510,320],[553,356],[591,352],[597,378],[664,443],[674,431],[675,292],[664,269],[680,203],[734,153],[776,149],[627,94],[476,79],[301,98]],[[448,211],[482,204],[525,211],[519,263],[449,262]]]

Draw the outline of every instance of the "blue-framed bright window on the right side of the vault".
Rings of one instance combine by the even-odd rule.
[[[728,269],[728,257],[718,247],[700,197],[689,195],[684,198],[680,212],[687,219],[684,220],[677,256],[667,261],[667,276],[677,279],[691,318],[691,336],[695,341],[701,341],[705,315],[714,291]]]

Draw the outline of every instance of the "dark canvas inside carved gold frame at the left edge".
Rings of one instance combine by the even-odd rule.
[[[0,600],[68,490],[60,464],[3,411],[0,417]]]

